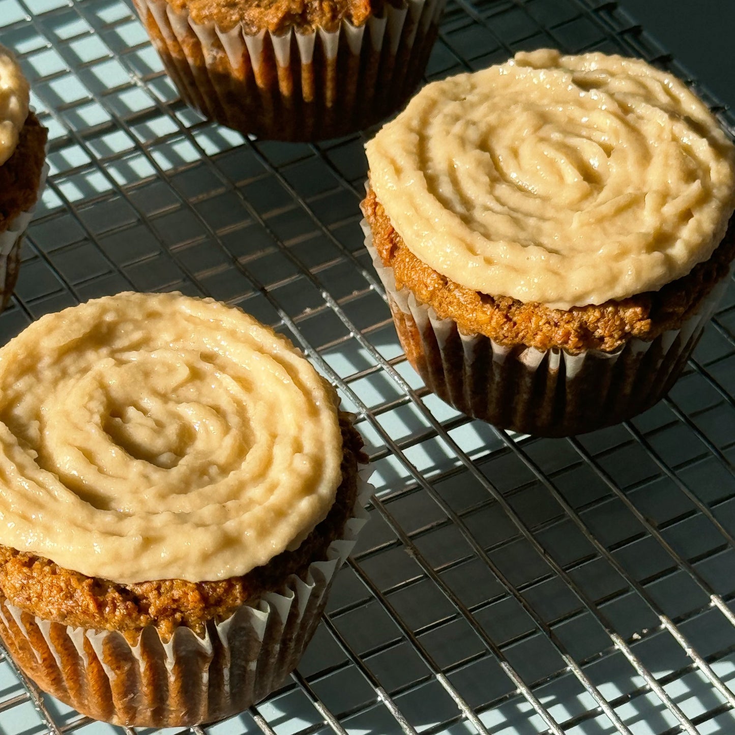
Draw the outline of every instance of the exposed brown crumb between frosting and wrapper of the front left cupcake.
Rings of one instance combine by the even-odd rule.
[[[362,438],[340,413],[343,437],[342,484],[327,517],[295,551],[240,577],[213,582],[162,579],[115,584],[60,567],[49,559],[0,545],[0,590],[10,603],[64,625],[137,634],[155,625],[164,640],[179,625],[202,634],[209,620],[223,620],[262,592],[279,589],[291,574],[326,559],[326,549],[342,536],[357,494],[358,464],[367,463]]]

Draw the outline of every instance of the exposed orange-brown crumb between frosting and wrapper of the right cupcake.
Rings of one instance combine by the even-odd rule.
[[[653,340],[662,331],[678,328],[695,312],[735,257],[733,218],[710,259],[696,265],[684,278],[623,301],[564,311],[460,286],[409,251],[372,190],[362,202],[362,211],[373,232],[373,245],[383,265],[392,268],[399,289],[412,291],[420,304],[429,304],[440,318],[456,321],[464,334],[484,334],[503,346],[563,348],[578,354],[587,349],[612,352],[632,337]]]

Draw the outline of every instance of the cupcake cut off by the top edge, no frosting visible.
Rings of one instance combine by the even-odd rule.
[[[276,140],[395,112],[420,82],[445,0],[134,0],[184,101]]]

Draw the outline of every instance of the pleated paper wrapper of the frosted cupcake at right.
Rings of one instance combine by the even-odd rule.
[[[503,429],[565,437],[612,426],[656,404],[673,386],[722,298],[715,284],[679,329],[612,352],[503,347],[484,334],[462,334],[383,265],[366,220],[365,247],[383,283],[398,338],[426,387],[459,411]]]

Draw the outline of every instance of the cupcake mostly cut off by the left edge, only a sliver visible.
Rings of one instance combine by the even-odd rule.
[[[29,109],[29,99],[18,62],[0,46],[0,309],[18,280],[21,241],[48,171],[48,131]]]

